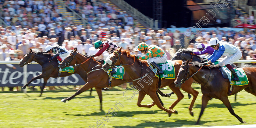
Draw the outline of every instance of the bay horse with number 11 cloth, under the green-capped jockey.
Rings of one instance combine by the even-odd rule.
[[[82,70],[87,72],[88,82],[82,88],[80,88],[74,95],[72,95],[71,97],[64,98],[61,101],[66,103],[67,100],[73,99],[76,95],[81,94],[82,92],[88,90],[89,88],[95,87],[95,89],[99,95],[99,99],[100,99],[100,104],[101,104],[100,110],[102,110],[101,88],[108,87],[108,74],[107,74],[107,72],[103,71],[102,67],[101,67],[101,65],[103,64],[103,61],[102,60],[94,61],[94,58],[80,54],[76,51],[77,51],[77,48],[75,48],[73,52],[71,52],[61,63],[59,63],[59,67],[64,68],[69,65],[78,64],[78,65],[76,65],[77,67],[81,67]],[[84,61],[84,60],[86,60],[86,61]],[[118,85],[124,84],[128,81],[130,82],[130,81],[132,81],[132,79],[129,77],[129,75],[125,71],[123,80],[112,79],[111,86],[112,87],[118,86]],[[157,94],[157,96],[158,96],[158,94]],[[162,103],[159,96],[158,96],[158,99]]]

